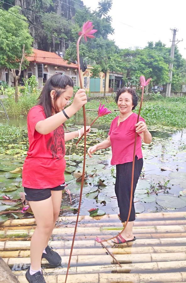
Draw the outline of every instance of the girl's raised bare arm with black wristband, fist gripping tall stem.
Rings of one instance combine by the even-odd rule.
[[[65,112],[68,117],[73,116],[77,111],[81,109],[81,107],[87,103],[87,97],[85,90],[79,89],[74,96],[73,103],[65,108]],[[52,112],[52,109],[51,109]],[[57,127],[62,125],[67,118],[63,114],[63,112],[59,112],[57,114],[52,115],[51,117],[48,117],[44,120],[41,120],[36,123],[35,129],[38,133],[42,135],[47,135],[51,133],[53,130],[55,130]]]

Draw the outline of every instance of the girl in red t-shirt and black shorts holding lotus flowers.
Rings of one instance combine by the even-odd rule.
[[[27,117],[29,150],[23,165],[23,187],[37,224],[30,243],[31,266],[26,272],[26,279],[32,283],[46,282],[41,258],[61,265],[61,257],[48,246],[48,241],[60,212],[65,142],[84,133],[84,127],[64,133],[63,123],[87,103],[85,90],[79,89],[73,103],[64,110],[73,95],[73,86],[67,75],[53,75],[46,81],[38,105],[30,109]],[[90,126],[86,130],[89,132]]]

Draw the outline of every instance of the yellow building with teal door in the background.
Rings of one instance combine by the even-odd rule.
[[[81,79],[83,83],[83,88],[87,92],[98,92],[103,93],[104,92],[104,86],[105,86],[105,74],[103,72],[100,72],[100,78],[91,78],[91,70],[93,69],[92,66],[87,65],[87,69],[85,72],[82,72],[81,70]],[[106,92],[108,92],[108,83],[109,83],[109,71],[107,72],[107,79],[106,79]],[[80,82],[79,82],[80,86]]]

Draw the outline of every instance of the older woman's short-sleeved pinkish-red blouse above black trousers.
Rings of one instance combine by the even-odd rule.
[[[137,117],[138,115],[133,113],[126,120],[120,122],[119,126],[119,116],[112,120],[110,131],[108,133],[112,147],[112,165],[133,161],[136,130],[135,125],[137,124]],[[141,116],[139,116],[139,121],[145,122]],[[137,135],[135,155],[137,155],[138,159],[143,157],[141,150],[141,137],[139,135]]]

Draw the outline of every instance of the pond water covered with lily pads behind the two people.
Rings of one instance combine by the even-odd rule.
[[[76,124],[82,123],[82,117],[75,117]],[[26,119],[12,120],[9,125],[25,125]],[[87,122],[89,124],[90,121]],[[4,121],[3,121],[4,124]],[[76,127],[77,128],[77,127]],[[73,125],[68,130],[74,130]],[[87,136],[87,148],[107,137],[109,125],[94,125]],[[135,192],[135,208],[137,213],[186,210],[186,130],[167,127],[149,127],[153,136],[150,145],[143,144],[144,167]],[[21,174],[9,173],[23,165],[25,159],[25,144],[23,149],[10,154],[10,145],[1,153],[0,161],[0,197],[19,199]],[[63,193],[61,215],[76,214],[79,204],[80,182],[76,178],[82,172],[82,155],[84,141],[75,146],[75,140],[66,143],[65,172],[67,189],[71,191],[72,205],[69,195]],[[89,215],[88,210],[96,208],[98,214],[118,213],[118,203],[115,198],[115,166],[110,165],[111,149],[100,150],[92,159],[86,158],[86,178],[83,189],[81,215]],[[77,174],[79,173],[79,175]],[[76,175],[76,177],[74,177]],[[19,209],[21,203],[8,205],[1,203],[0,211]],[[16,214],[19,217],[23,216]],[[29,214],[24,214],[28,216]],[[6,216],[4,216],[6,220]],[[3,219],[2,219],[3,221]]]

